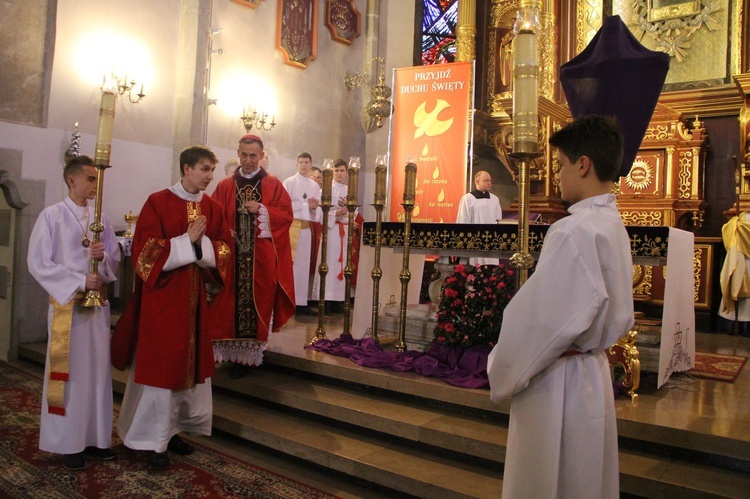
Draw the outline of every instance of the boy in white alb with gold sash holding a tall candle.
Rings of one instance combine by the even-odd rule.
[[[115,280],[120,250],[107,218],[99,242],[90,225],[98,172],[89,156],[77,156],[63,170],[68,197],[39,214],[29,240],[27,263],[49,293],[47,360],[44,367],[39,448],[63,454],[63,466],[80,470],[86,458],[116,457],[112,445],[112,377],[109,304],[77,305],[88,290],[106,296]],[[91,259],[98,273],[89,273]]]

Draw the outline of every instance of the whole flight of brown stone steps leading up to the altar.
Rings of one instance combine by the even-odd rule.
[[[224,366],[217,370],[217,430],[403,494],[499,494],[507,414],[487,403],[486,391],[456,389],[421,376],[325,358],[300,363],[267,354],[264,367],[239,380],[229,378]],[[115,391],[122,393],[127,374],[113,371],[113,378]],[[618,421],[618,427],[621,424]],[[633,435],[620,445],[623,493],[747,497],[750,475],[723,467],[721,455],[711,456],[706,464],[682,459],[683,449],[673,447],[671,439],[662,435],[666,443],[651,442],[644,428],[631,425]],[[675,439],[715,444],[707,434],[672,430]],[[639,431],[646,435],[635,435]],[[640,439],[642,445],[629,446],[632,439]],[[732,448],[730,453],[743,452],[742,442],[724,439],[724,444]],[[654,453],[649,450],[652,445],[673,451]]]

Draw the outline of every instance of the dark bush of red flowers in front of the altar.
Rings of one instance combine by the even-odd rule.
[[[456,265],[443,282],[434,341],[441,346],[494,346],[516,289],[505,265]]]

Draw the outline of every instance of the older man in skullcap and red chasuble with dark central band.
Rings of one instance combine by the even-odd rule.
[[[260,168],[260,137],[242,137],[237,155],[240,168],[213,194],[234,234],[230,244],[235,257],[230,284],[215,298],[215,312],[225,327],[217,330],[214,352],[220,362],[257,366],[263,362],[268,332],[278,331],[295,313],[289,241],[294,213],[279,179]]]

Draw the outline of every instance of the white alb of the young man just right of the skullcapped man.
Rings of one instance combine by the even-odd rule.
[[[284,180],[284,189],[292,198],[294,219],[303,222],[320,222],[321,210],[310,209],[309,200],[320,201],[320,187],[311,178],[296,173]],[[310,255],[312,251],[312,231],[310,228],[299,231],[296,249],[292,249],[294,258],[294,297],[298,306],[307,306],[310,296]]]

